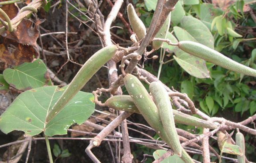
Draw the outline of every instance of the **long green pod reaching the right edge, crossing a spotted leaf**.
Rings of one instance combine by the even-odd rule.
[[[178,42],[178,47],[184,52],[202,58],[225,69],[256,77],[256,70],[233,61],[222,53],[204,46],[203,44],[195,43],[193,41],[180,41]]]

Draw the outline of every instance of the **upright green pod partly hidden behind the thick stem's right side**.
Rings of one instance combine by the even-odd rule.
[[[166,38],[167,32],[169,31],[169,28],[170,28],[170,23],[171,23],[171,13],[166,18],[164,24],[156,34],[155,38]],[[163,44],[162,41],[153,41],[153,49],[158,50],[160,47],[162,47],[162,44]]]

